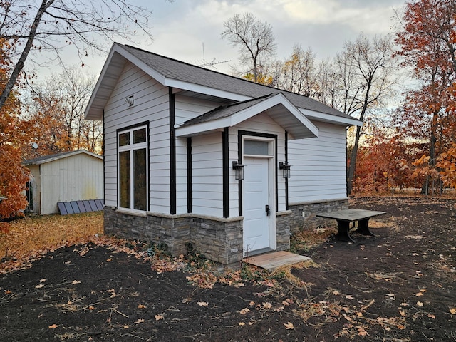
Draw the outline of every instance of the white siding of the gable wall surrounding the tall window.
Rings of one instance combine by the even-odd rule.
[[[133,95],[128,107],[125,98]],[[149,122],[150,211],[170,213],[168,89],[127,63],[105,107],[105,204],[117,206],[116,130]]]

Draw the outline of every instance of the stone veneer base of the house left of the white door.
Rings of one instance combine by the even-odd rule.
[[[242,259],[242,220],[195,217],[192,215],[132,214],[104,208],[107,235],[167,244],[173,257],[186,254],[185,244],[221,264]]]

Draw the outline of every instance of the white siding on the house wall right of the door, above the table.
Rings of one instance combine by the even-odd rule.
[[[318,138],[289,141],[289,203],[345,198],[346,130],[314,123]]]

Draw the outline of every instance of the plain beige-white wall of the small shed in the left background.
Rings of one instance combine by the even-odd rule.
[[[103,199],[103,160],[83,153],[40,165],[41,214],[58,212],[57,202]]]

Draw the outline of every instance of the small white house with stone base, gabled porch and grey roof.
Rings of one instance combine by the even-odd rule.
[[[362,123],[304,95],[115,43],[86,118],[104,123],[106,234],[232,264],[348,207]]]

